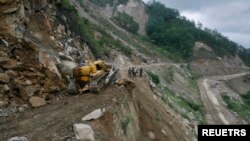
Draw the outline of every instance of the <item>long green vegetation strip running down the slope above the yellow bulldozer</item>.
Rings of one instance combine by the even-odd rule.
[[[70,23],[69,28],[82,37],[90,46],[95,57],[103,58],[103,56],[108,56],[110,49],[120,50],[127,56],[132,54],[129,47],[124,46],[119,40],[113,39],[103,28],[81,17],[68,0],[61,0],[61,12],[67,16],[68,23]],[[101,37],[95,37],[95,32],[99,32]]]

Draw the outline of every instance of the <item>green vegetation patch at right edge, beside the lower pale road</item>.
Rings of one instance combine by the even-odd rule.
[[[235,100],[226,94],[223,94],[222,98],[229,109],[250,123],[250,91],[242,96],[243,103],[235,102]]]

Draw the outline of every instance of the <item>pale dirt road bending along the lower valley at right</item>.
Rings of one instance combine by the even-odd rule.
[[[207,78],[201,78],[198,80],[198,86],[200,89],[201,100],[203,102],[205,112],[206,112],[206,120],[208,124],[234,124],[231,123],[228,116],[229,112],[227,108],[223,107],[215,94],[211,91],[210,85],[208,83],[209,80],[229,80],[237,77],[241,77],[244,75],[250,74],[250,72],[233,74],[233,75],[224,75],[224,76],[212,76]],[[236,118],[236,117],[235,117]]]

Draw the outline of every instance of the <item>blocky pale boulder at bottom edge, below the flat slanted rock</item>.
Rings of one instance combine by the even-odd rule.
[[[77,141],[94,141],[94,131],[88,124],[74,124]]]

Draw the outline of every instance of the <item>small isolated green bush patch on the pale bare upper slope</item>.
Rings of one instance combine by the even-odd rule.
[[[118,12],[117,15],[114,16],[114,21],[131,33],[137,33],[139,30],[139,25],[134,21],[133,17],[124,12]]]

